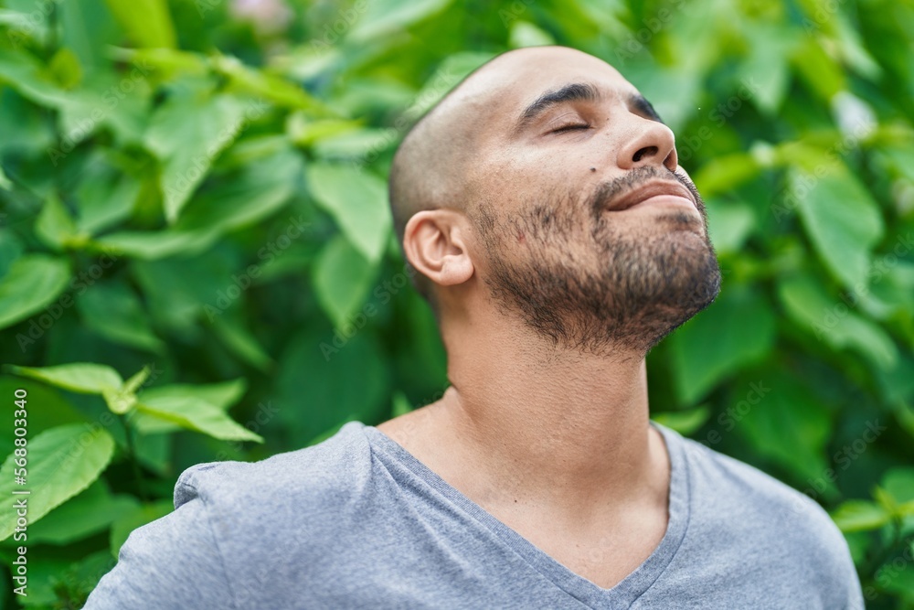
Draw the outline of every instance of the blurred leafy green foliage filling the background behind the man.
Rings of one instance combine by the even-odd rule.
[[[654,103],[707,200],[723,291],[650,355],[654,418],[822,503],[867,605],[914,608],[909,0],[0,7],[0,496],[17,389],[32,490],[5,607],[80,607],[187,466],[441,395],[390,158],[467,72],[558,43]]]

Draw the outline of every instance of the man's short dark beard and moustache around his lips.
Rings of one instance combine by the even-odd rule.
[[[652,215],[650,227],[622,230],[608,205],[655,178],[685,185],[700,220],[670,209]],[[557,348],[646,354],[720,290],[704,202],[690,180],[668,169],[635,168],[602,183],[583,206],[572,193],[553,192],[546,205],[527,206],[510,219],[495,218],[492,210],[483,205],[472,215],[487,251],[484,282],[503,313],[519,314]],[[515,236],[527,250],[505,256]],[[593,256],[582,259],[582,245],[596,254],[596,264],[582,262]]]

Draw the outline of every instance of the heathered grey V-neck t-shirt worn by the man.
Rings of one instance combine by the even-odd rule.
[[[611,589],[572,572],[374,426],[188,468],[85,606],[861,609],[844,538],[799,492],[656,425],[672,465],[659,546]],[[589,560],[600,561],[598,541]]]

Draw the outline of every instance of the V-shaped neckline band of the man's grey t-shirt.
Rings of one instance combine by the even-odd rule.
[[[555,583],[580,602],[592,608],[628,608],[646,592],[660,577],[666,567],[673,561],[676,551],[685,538],[690,517],[689,473],[683,447],[683,439],[673,430],[652,422],[651,424],[664,437],[667,454],[670,457],[670,493],[669,519],[663,539],[634,572],[622,579],[611,589],[604,589],[587,578],[572,572],[564,564],[553,559],[545,551],[526,540],[505,523],[496,519],[491,513],[463,495],[462,491],[452,487],[441,476],[425,466],[409,453],[401,444],[375,426],[360,423],[369,444],[385,454],[395,458],[406,466],[432,489],[448,499],[467,515],[482,523],[488,530],[520,555],[538,573]]]

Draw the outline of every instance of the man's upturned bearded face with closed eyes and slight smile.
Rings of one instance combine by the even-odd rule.
[[[506,313],[564,348],[646,351],[714,300],[704,204],[631,83],[590,55],[539,48],[473,85],[477,269]]]

